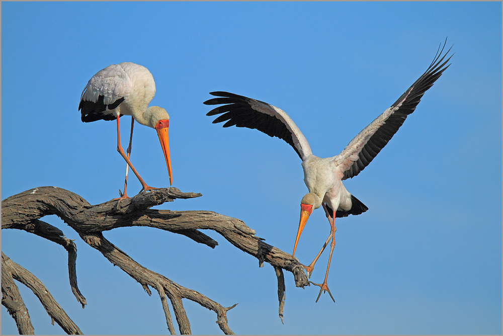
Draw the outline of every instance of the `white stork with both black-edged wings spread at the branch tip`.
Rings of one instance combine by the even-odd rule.
[[[304,182],[309,192],[304,195],[300,202],[300,222],[292,256],[295,255],[300,234],[314,209],[323,206],[330,223],[330,235],[323,247],[314,261],[309,266],[304,266],[307,275],[310,277],[314,264],[331,238],[330,256],[328,257],[325,279],[322,284],[312,283],[320,287],[316,302],[318,302],[322,291],[327,291],[333,300],[326,280],[335,245],[334,233],[336,227],[334,226],[334,219],[336,217],[347,217],[350,214],[359,215],[368,210],[362,202],[346,190],[342,181],[353,178],[363,171],[396,133],[407,115],[414,112],[424,93],[433,86],[433,83],[449,66],[446,63],[452,56],[445,61],[444,58],[450,49],[442,56],[443,50],[444,48],[440,53],[437,51],[437,55],[435,55],[426,72],[390,108],[386,109],[370,125],[365,127],[340,154],[332,157],[320,158],[313,155],[309,143],[292,119],[284,111],[268,103],[228,92],[212,92],[210,94],[218,98],[204,102],[206,105],[227,104],[219,106],[206,114],[207,116],[213,116],[223,113],[213,123],[227,121],[223,127],[233,125],[247,127],[257,129],[271,137],[276,136],[290,144],[302,159]]]

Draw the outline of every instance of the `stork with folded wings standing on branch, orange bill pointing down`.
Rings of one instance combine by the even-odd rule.
[[[82,122],[91,122],[100,119],[117,120],[117,151],[127,162],[124,193],[121,194],[120,198],[114,199],[119,200],[119,202],[128,198],[126,194],[128,166],[131,167],[131,170],[140,181],[143,187],[141,191],[157,189],[147,186],[129,160],[135,120],[142,125],[157,130],[164,158],[166,159],[167,172],[170,175],[170,185],[173,182],[170,143],[167,131],[170,126],[170,116],[166,110],[158,106],[147,108],[154,95],[155,82],[150,71],[139,64],[123,62],[120,64],[111,64],[98,71],[89,79],[86,88],[84,88],[80,96],[78,110],[81,112],[80,119]],[[123,115],[131,116],[131,135],[129,137],[127,155],[122,149],[120,137],[119,118]]]

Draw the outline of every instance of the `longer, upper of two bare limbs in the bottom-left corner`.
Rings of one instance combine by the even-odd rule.
[[[51,316],[52,320],[56,321],[56,323],[58,323],[59,326],[67,334],[82,334],[82,331],[80,331],[77,325],[73,323],[73,321],[59,306],[56,300],[54,300],[51,293],[49,293],[44,284],[37,277],[13,262],[2,252],[2,270],[4,269],[4,267],[6,267],[11,272],[13,279],[16,279],[33,291],[33,293],[38,297],[38,299],[44,306],[49,316]]]

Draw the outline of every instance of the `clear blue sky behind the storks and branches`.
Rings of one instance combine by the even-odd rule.
[[[501,3],[2,3],[2,199],[56,186],[91,204],[118,197],[125,162],[114,122],[82,123],[89,78],[109,64],[146,66],[151,105],[171,116],[173,186],[202,197],[159,206],[242,219],[289,253],[307,188],[300,159],[256,130],[205,114],[212,91],[275,105],[315,155],[338,154],[388,108],[448,37],[452,65],[372,163],[345,181],[369,210],[336,221],[327,294],[285,273],[285,324],[273,268],[215,232],[215,249],[152,228],[104,235],[138,263],[224,306],[236,333],[501,333]],[[125,130],[129,117],[121,118]],[[128,131],[122,141],[127,141]],[[137,125],[131,160],[169,186],[154,130]],[[133,175],[129,196],[141,187]],[[158,296],[76,239],[81,309],[66,251],[2,231],[2,250],[47,286],[84,333],[167,333]],[[296,257],[308,264],[329,233],[311,215]],[[328,251],[311,280],[321,282]],[[36,333],[63,333],[20,285]],[[184,300],[193,333],[221,333]],[[178,331],[178,328],[177,328]],[[17,333],[2,308],[2,333]]]

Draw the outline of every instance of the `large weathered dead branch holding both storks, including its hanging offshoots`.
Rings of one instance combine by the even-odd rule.
[[[282,269],[292,272],[297,287],[309,285],[304,269],[296,259],[255,236],[255,231],[239,219],[212,211],[150,209],[154,205],[172,202],[177,198],[187,199],[199,196],[201,194],[182,193],[176,188],[165,188],[139,194],[123,200],[119,205],[117,202],[90,205],[86,200],[70,191],[56,187],[39,187],[11,196],[2,202],[2,228],[25,230],[61,244],[68,251],[70,285],[82,307],[86,304],[86,299],[77,288],[75,244],[64,237],[63,232],[58,228],[40,221],[39,218],[43,216],[52,214],[59,216],[86,243],[98,249],[111,263],[119,266],[139,282],[148,295],[151,294],[149,287],[157,290],[167,326],[172,334],[175,330],[166,296],[172,303],[181,333],[191,332],[189,319],[182,303],[182,299],[189,299],[214,311],[217,314],[217,323],[221,330],[226,334],[232,334],[232,330],[227,325],[226,312],[235,305],[225,308],[194,290],[180,286],[170,279],[144,268],[102,235],[103,231],[117,227],[148,226],[182,234],[214,248],[218,243],[199,231],[201,229],[214,230],[237,248],[256,257],[260,267],[263,267],[264,262],[274,267],[278,277],[279,313],[283,320],[285,285]],[[78,332],[80,331],[78,330]]]

